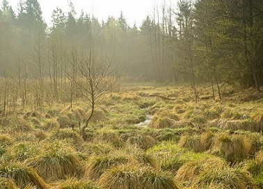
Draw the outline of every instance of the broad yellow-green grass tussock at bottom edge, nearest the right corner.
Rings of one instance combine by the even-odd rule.
[[[175,179],[192,188],[255,188],[248,172],[229,167],[219,158],[188,162],[178,170]]]

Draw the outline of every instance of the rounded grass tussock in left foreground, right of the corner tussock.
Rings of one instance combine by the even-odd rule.
[[[46,146],[44,151],[31,161],[31,165],[45,180],[74,176],[80,167],[80,160],[74,150],[60,143]]]

